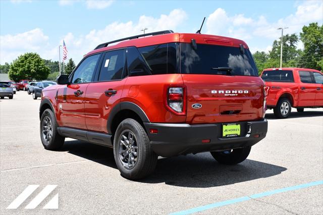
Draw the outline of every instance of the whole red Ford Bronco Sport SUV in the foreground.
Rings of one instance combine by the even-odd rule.
[[[70,137],[113,147],[132,180],[158,155],[210,151],[238,164],[267,132],[264,82],[238,39],[168,30],[106,42],[57,82],[42,91],[43,146]]]

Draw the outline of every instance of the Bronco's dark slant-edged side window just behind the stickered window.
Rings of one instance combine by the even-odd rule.
[[[129,76],[150,75],[151,70],[147,68],[145,60],[136,47],[127,48],[127,64]]]

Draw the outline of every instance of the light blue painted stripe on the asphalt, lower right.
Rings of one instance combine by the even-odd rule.
[[[251,199],[270,196],[270,195],[277,194],[277,193],[283,193],[283,192],[292,191],[292,190],[299,190],[299,189],[312,187],[312,186],[317,186],[317,185],[322,185],[322,184],[323,184],[323,180],[322,181],[314,181],[314,182],[310,182],[310,183],[307,183],[307,184],[300,184],[300,185],[296,185],[296,186],[285,187],[285,188],[281,188],[281,189],[277,189],[277,190],[271,190],[271,191],[266,191],[266,192],[262,192],[262,193],[256,193],[256,194],[253,194],[253,195],[250,195],[250,196],[243,196],[243,197],[240,197],[240,198],[234,198],[234,199],[229,199],[229,200],[226,200],[226,201],[219,201],[219,202],[215,202],[215,203],[212,203],[212,204],[206,204],[206,205],[203,205],[203,206],[193,207],[191,209],[171,213],[170,215],[196,213],[196,212],[200,212],[200,211],[203,211],[203,210],[208,210],[208,209],[211,209],[211,208],[221,207],[221,206],[234,204],[234,203],[238,203],[238,202],[242,202],[242,201],[248,201],[248,200],[251,200]]]

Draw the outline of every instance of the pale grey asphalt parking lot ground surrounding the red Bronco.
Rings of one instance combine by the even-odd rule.
[[[1,214],[323,213],[323,109],[293,109],[284,120],[268,111],[267,137],[239,165],[209,153],[163,158],[134,182],[120,176],[112,149],[66,139],[61,151],[45,150],[39,104],[24,91],[0,100]],[[28,185],[39,187],[7,209]],[[25,209],[46,185],[57,187]],[[57,193],[59,208],[43,209]]]

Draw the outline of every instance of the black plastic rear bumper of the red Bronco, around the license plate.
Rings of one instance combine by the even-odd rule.
[[[237,122],[241,125],[241,136],[222,138],[222,123],[217,124],[166,124],[144,123],[153,151],[164,157],[203,151],[221,151],[252,146],[267,133],[267,120]],[[251,132],[248,128],[251,126]],[[151,134],[150,129],[157,129]],[[259,137],[254,137],[259,135]],[[202,143],[209,139],[210,142]]]

